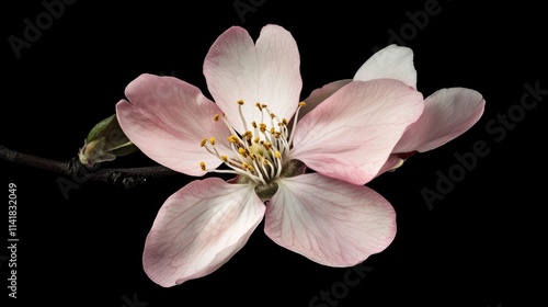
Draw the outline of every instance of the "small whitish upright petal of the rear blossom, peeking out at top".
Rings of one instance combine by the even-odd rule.
[[[413,50],[389,45],[368,58],[354,75],[354,80],[396,79],[416,89],[416,70],[413,65]]]

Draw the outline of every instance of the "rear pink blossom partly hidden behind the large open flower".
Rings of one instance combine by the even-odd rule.
[[[352,80],[339,80],[315,90],[305,101],[313,110],[339,89],[351,81],[375,79],[395,79],[416,89],[416,70],[413,65],[413,52],[408,47],[389,45],[374,54],[356,71]],[[483,114],[486,101],[471,89],[448,88],[432,93],[424,100],[424,111],[415,123],[411,124],[392,149],[392,155],[379,171],[379,174],[398,168],[414,152],[435,149],[458,137],[473,126]]]

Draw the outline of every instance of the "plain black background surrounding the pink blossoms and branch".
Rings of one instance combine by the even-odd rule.
[[[387,45],[390,31],[408,29],[403,44],[413,48],[418,87],[425,96],[466,87],[481,92],[487,106],[459,138],[368,184],[395,206],[398,235],[366,260],[373,270],[354,286],[342,286],[351,269],[326,268],[285,250],[261,225],[218,271],[162,288],[142,271],[145,238],[163,201],[192,178],[151,180],[134,190],[85,182],[66,200],[58,174],[0,161],[3,193],[8,183],[18,185],[20,239],[18,299],[8,297],[8,262],[0,262],[0,293],[9,303],[2,306],[507,307],[546,302],[543,145],[548,95],[530,110],[520,106],[525,83],[548,90],[540,4],[439,0],[438,13],[412,32],[409,14],[433,1],[251,1],[258,5],[243,21],[236,1],[79,0],[65,5],[62,15],[16,58],[8,37],[23,38],[23,20],[34,22],[45,9],[39,1],[13,2],[2,4],[0,144],[45,158],[72,158],[89,129],[114,113],[125,86],[142,72],[174,75],[208,94],[203,59],[231,25],[244,26],[254,38],[267,23],[292,32],[301,55],[302,98],[327,82],[352,78],[374,47]],[[509,111],[515,122],[501,128],[498,114]],[[488,129],[492,121],[496,133]],[[429,207],[422,189],[436,191],[438,174],[457,168],[455,154],[472,150],[477,141],[487,144],[489,154],[477,157],[464,179]],[[149,164],[134,154],[104,167]],[[0,255],[7,254],[2,248]],[[333,300],[310,305],[322,291]],[[135,298],[140,305],[128,304]]]

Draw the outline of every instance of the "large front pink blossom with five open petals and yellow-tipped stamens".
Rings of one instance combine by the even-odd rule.
[[[236,175],[195,180],[165,201],[142,255],[153,282],[214,272],[263,218],[274,242],[330,266],[355,265],[393,240],[393,208],[363,184],[419,118],[422,95],[398,80],[347,82],[297,122],[306,109],[299,65],[283,27],[266,25],[253,43],[233,26],[204,62],[215,102],[172,77],[141,75],[127,86],[116,113],[144,154],[190,175]]]

